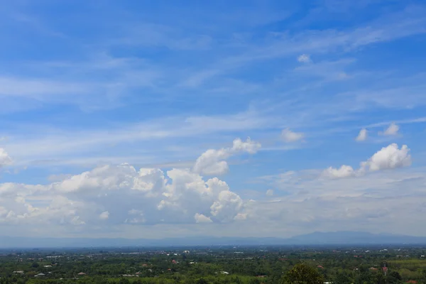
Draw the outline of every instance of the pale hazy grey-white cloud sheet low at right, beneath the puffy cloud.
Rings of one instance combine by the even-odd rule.
[[[258,224],[267,226],[274,220],[297,231],[373,232],[413,228],[426,213],[425,168],[373,171],[345,179],[317,178],[318,173],[321,171],[312,169],[270,176],[271,185],[288,195],[273,201],[246,203],[243,213]],[[425,235],[426,230],[419,234]]]

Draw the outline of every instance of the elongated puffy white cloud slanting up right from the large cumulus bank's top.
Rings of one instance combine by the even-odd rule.
[[[251,141],[250,138],[241,141],[237,138],[234,140],[231,148],[222,148],[219,150],[209,149],[202,153],[199,158],[195,161],[193,171],[203,175],[223,175],[229,170],[229,165],[226,159],[231,155],[238,153],[249,153],[254,154],[261,148],[261,144],[255,141]]]

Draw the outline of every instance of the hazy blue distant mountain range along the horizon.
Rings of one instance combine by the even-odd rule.
[[[426,237],[357,231],[315,232],[280,238],[189,237],[168,239],[28,238],[0,236],[0,248],[82,248],[119,246],[303,246],[426,244]]]

